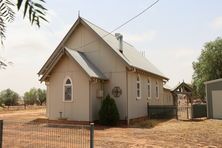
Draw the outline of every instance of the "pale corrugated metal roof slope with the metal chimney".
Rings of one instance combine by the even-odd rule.
[[[127,64],[132,67],[150,72],[152,74],[168,79],[160,72],[146,57],[142,56],[135,47],[127,42],[123,42],[123,53],[119,51],[119,41],[116,37],[88,20],[81,18],[90,28],[92,28]],[[105,36],[105,37],[104,37]]]

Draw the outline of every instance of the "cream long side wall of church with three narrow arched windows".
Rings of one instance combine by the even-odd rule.
[[[147,116],[147,103],[150,105],[165,105],[163,101],[163,81],[162,79],[149,75],[140,75],[141,98],[137,99],[136,92],[136,72],[128,72],[128,104],[129,104],[129,118],[138,118]],[[151,98],[148,99],[148,78],[151,81]],[[156,81],[159,86],[159,98],[155,96]]]

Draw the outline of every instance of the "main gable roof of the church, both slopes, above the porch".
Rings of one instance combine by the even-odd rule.
[[[127,42],[123,42],[123,53],[119,51],[119,41],[116,37],[109,32],[103,30],[102,28],[94,25],[93,23],[89,22],[88,20],[79,17],[74,25],[71,27],[69,32],[60,42],[59,46],[47,60],[47,62],[43,65],[41,70],[38,72],[39,75],[44,75],[47,69],[52,65],[53,61],[55,61],[56,55],[60,53],[61,48],[64,48],[65,42],[68,40],[69,36],[78,26],[78,24],[82,23],[84,26],[90,28],[93,32],[95,32],[108,46],[113,49],[113,51],[130,67],[146,71],[148,73],[157,75],[163,79],[168,80],[166,76],[164,76],[148,59],[142,56],[132,45],[128,44]],[[73,49],[76,50],[76,49]]]

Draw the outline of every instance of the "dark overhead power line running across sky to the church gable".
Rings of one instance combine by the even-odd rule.
[[[121,24],[120,26],[116,27],[115,29],[113,29],[111,32],[108,32],[106,35],[102,36],[102,38],[105,38],[106,36],[112,34],[113,32],[115,32],[116,30],[122,28],[123,26],[125,26],[126,24],[128,24],[129,22],[133,21],[134,19],[136,19],[137,17],[139,17],[140,15],[142,15],[143,13],[145,13],[147,10],[151,9],[154,5],[156,5],[159,2],[159,0],[156,0],[154,3],[152,3],[151,5],[149,5],[148,7],[146,7],[144,10],[142,10],[140,13],[138,13],[137,15],[133,16],[132,18],[130,18],[129,20],[127,20],[125,23]],[[87,47],[88,45],[96,42],[98,39],[90,41],[88,43],[86,43],[85,45],[82,45],[76,49],[79,48],[83,48],[83,47]]]

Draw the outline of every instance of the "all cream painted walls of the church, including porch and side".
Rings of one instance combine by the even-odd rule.
[[[89,46],[79,48],[91,41]],[[109,79],[103,85],[99,82],[89,82],[89,77],[75,62],[64,57],[51,74],[49,90],[48,114],[51,119],[58,119],[59,112],[70,120],[92,121],[98,119],[98,111],[101,106],[101,99],[96,98],[96,91],[101,87],[104,90],[104,97],[107,94],[112,96],[112,89],[119,86],[122,89],[120,97],[112,96],[117,104],[120,119],[127,117],[127,104],[129,105],[129,117],[138,118],[147,115],[147,101],[150,105],[163,105],[163,81],[162,79],[150,76],[152,97],[147,100],[147,75],[141,75],[142,94],[141,99],[136,99],[136,73],[126,71],[126,65],[121,58],[114,53],[102,39],[80,24],[72,33],[65,46],[74,50],[84,52],[87,58],[100,69]],[[125,51],[127,52],[127,51]],[[127,103],[127,73],[128,73],[128,103]],[[74,82],[74,101],[64,103],[62,101],[62,84],[65,76],[70,76]],[[159,85],[159,99],[155,98],[155,82]]]

